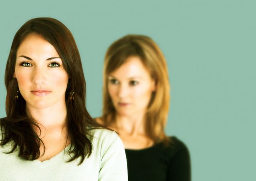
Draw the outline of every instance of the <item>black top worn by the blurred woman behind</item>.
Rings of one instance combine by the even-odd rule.
[[[190,181],[187,147],[176,137],[142,150],[125,149],[129,181]]]

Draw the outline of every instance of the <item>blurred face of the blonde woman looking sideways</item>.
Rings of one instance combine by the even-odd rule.
[[[155,91],[155,81],[139,57],[129,57],[109,74],[108,91],[117,114],[145,114],[152,92]]]

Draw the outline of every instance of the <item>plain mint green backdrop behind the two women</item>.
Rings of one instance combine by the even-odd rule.
[[[166,132],[187,144],[193,181],[256,180],[255,0],[1,1],[1,117],[14,34],[42,16],[60,20],[73,33],[94,117],[101,115],[107,47],[127,33],[152,37],[167,59],[172,86]]]

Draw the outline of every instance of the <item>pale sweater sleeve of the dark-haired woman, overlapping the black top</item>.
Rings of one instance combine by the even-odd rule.
[[[125,149],[115,132],[103,140],[99,181],[128,181]]]

